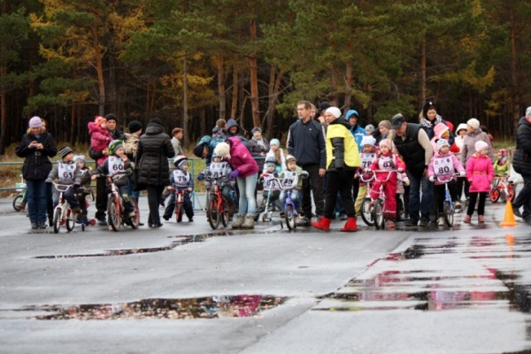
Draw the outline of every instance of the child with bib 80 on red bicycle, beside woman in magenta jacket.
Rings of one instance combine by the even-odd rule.
[[[225,198],[228,204],[228,213],[232,218],[235,213],[235,184],[236,181],[231,179],[230,173],[233,172],[233,168],[227,160],[220,157],[218,154],[212,154],[212,162],[204,171],[204,174],[211,179],[215,179],[218,182],[218,187],[221,189],[221,194]],[[213,193],[211,181],[204,181],[204,187]],[[209,198],[210,200],[210,198]]]

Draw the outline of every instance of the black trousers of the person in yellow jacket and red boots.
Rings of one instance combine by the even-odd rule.
[[[325,203],[325,211],[321,215],[332,219],[335,211],[335,199],[339,192],[345,208],[345,214],[349,218],[356,218],[354,199],[352,198],[352,186],[354,183],[358,184],[358,180],[354,181],[354,172],[354,170],[327,172],[327,201]],[[359,189],[359,184],[356,189]]]

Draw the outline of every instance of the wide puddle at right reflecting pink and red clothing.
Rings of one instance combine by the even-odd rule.
[[[369,267],[375,275],[354,279],[335,293],[321,297],[315,310],[359,311],[414,309],[441,311],[458,308],[506,308],[531,311],[531,285],[519,281],[519,273],[502,272],[482,264],[477,270],[463,268],[427,270],[436,262],[459,259],[528,258],[529,235],[493,238],[420,238],[404,252],[389,253]],[[427,259],[427,263],[423,259]],[[466,265],[466,262],[463,263]],[[378,272],[377,269],[381,268]],[[401,270],[393,270],[399,268]],[[451,269],[451,267],[450,267]]]

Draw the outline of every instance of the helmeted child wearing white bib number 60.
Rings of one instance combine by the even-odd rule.
[[[119,194],[124,200],[126,212],[131,219],[136,217],[135,206],[131,201],[131,196],[127,194],[129,186],[129,175],[133,173],[133,164],[127,158],[124,150],[123,140],[113,140],[109,143],[109,158],[104,160],[102,165],[98,165],[96,173],[92,176],[92,180],[96,180],[97,175],[108,174],[112,177],[112,181],[118,187]]]

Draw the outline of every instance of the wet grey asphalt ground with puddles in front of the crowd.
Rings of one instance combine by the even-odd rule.
[[[0,199],[0,352],[531,352],[531,225],[504,217],[54,234]]]

